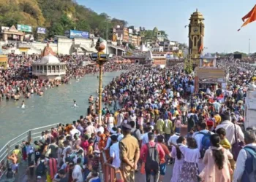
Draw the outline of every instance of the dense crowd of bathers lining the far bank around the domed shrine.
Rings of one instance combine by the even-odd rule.
[[[40,59],[39,55],[8,55],[9,68],[0,70],[0,102],[7,100],[19,100],[20,97],[30,98],[31,94],[42,95],[45,90],[68,84],[70,79],[79,79],[86,74],[95,74],[99,71],[96,65],[81,66],[82,61],[91,61],[83,55],[57,55],[61,62],[66,63],[66,75],[61,81],[37,79],[31,75],[31,63]],[[116,64],[118,57],[113,57],[104,65],[104,71],[126,70],[131,66]],[[92,63],[92,62],[91,62]]]

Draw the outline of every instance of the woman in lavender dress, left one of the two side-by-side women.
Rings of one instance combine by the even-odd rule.
[[[177,144],[178,144],[178,146],[173,146],[172,152],[170,153],[171,157],[175,158],[175,163],[173,166],[173,176],[170,179],[170,182],[178,181],[178,177],[181,173],[181,167],[184,164],[184,156],[181,153],[179,146],[186,145],[186,139],[184,137],[180,136],[177,139]]]

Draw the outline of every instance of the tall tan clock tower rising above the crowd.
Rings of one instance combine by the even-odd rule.
[[[200,12],[193,12],[189,23],[189,58],[194,66],[200,65],[200,55],[203,52],[203,36],[205,25],[203,15]]]

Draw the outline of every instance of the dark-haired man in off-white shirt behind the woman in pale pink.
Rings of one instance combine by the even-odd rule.
[[[244,141],[244,132],[241,130],[238,124],[233,124],[230,119],[230,114],[227,111],[224,111],[222,116],[222,123],[216,127],[216,130],[219,128],[224,128],[226,130],[227,141],[230,142],[231,146],[236,142],[235,138],[235,128],[236,128],[236,137],[238,141]],[[234,159],[230,159],[230,165],[233,170],[235,170],[236,162]]]

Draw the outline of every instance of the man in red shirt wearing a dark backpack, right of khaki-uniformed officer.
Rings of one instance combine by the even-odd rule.
[[[157,182],[159,179],[159,159],[165,157],[165,151],[162,149],[161,145],[154,142],[153,132],[148,132],[148,141],[149,142],[141,148],[140,159],[145,162],[146,182],[150,182],[152,170],[154,172],[154,182]],[[155,152],[157,152],[159,156],[155,156]],[[154,159],[151,157],[154,157]],[[153,163],[154,166],[152,165]]]

